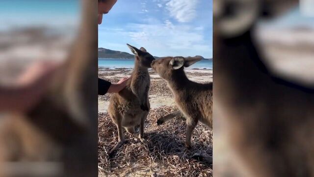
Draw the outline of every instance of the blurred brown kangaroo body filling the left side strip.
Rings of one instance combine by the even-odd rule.
[[[1,118],[0,161],[20,163],[1,163],[0,176],[98,174],[97,1],[82,2],[80,32],[47,94],[29,113]]]

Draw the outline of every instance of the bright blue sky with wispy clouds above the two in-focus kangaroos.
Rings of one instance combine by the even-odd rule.
[[[98,45],[154,56],[212,58],[212,0],[118,0],[99,26]]]

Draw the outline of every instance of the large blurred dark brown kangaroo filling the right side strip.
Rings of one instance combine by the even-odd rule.
[[[297,1],[259,2],[214,0],[215,121],[225,120],[219,127],[238,157],[230,160],[246,167],[246,176],[314,176],[314,89],[274,76],[253,37],[260,14]],[[214,146],[214,153],[223,152]]]

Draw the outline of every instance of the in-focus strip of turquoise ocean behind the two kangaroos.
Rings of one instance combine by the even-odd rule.
[[[98,59],[98,66],[108,67],[110,69],[114,68],[133,68],[134,59]],[[212,69],[212,60],[203,59],[200,60],[186,69]]]

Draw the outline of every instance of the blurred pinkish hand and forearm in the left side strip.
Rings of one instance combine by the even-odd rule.
[[[38,61],[31,65],[11,87],[0,86],[0,112],[27,112],[49,88],[61,63]]]

